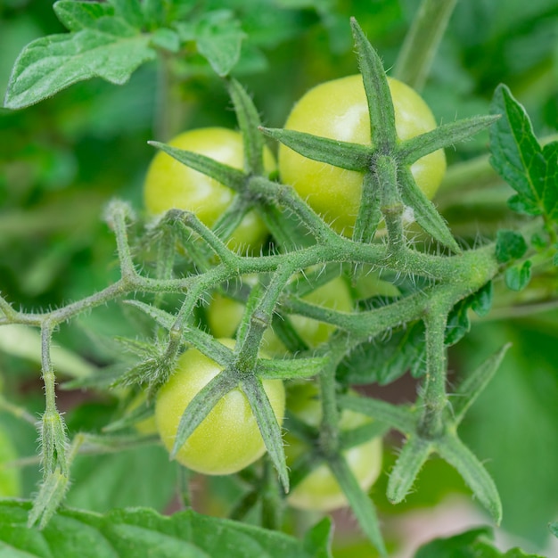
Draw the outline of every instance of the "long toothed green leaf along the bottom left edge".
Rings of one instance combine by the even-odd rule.
[[[0,546],[13,549],[10,554],[13,558],[39,555],[49,558],[315,556],[294,537],[236,521],[206,517],[192,510],[172,516],[142,508],[116,509],[105,515],[62,510],[43,530],[26,527],[28,510],[27,502],[0,502]],[[321,546],[326,545],[321,539]]]

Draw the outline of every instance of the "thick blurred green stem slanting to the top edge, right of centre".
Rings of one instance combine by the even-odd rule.
[[[457,0],[423,0],[398,55],[394,78],[423,88]]]

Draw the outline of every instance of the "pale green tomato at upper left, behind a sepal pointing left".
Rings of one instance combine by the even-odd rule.
[[[244,166],[242,135],[223,127],[190,130],[168,142],[185,151],[201,153],[230,167]],[[275,160],[266,148],[264,167],[275,170]],[[234,192],[217,180],[186,167],[165,152],[158,152],[147,170],[144,183],[145,208],[152,215],[168,209],[193,211],[206,226],[213,226],[228,208]],[[247,246],[259,249],[267,237],[267,228],[254,211],[250,211],[234,231],[229,246],[240,250]]]

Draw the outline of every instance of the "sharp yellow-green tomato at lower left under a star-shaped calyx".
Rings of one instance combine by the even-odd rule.
[[[233,340],[219,340],[234,348]],[[213,379],[222,366],[197,349],[178,358],[175,372],[159,390],[155,421],[170,450],[186,406]],[[283,422],[285,393],[280,380],[264,380],[264,390],[278,423]],[[264,455],[266,447],[248,399],[240,389],[229,391],[201,421],[176,454],[176,460],[196,472],[226,475],[238,472]]]

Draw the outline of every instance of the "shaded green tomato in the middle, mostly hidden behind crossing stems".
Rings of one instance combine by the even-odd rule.
[[[353,308],[349,288],[341,277],[336,277],[329,283],[321,285],[315,291],[305,296],[304,300],[316,304],[316,306],[331,308],[341,312],[350,312]],[[209,304],[208,311],[208,322],[211,331],[216,337],[232,337],[234,332],[236,332],[236,328],[241,323],[243,312],[244,305],[241,302],[227,299],[220,294],[214,295],[213,300]],[[291,323],[302,340],[311,349],[327,341],[332,332],[335,331],[334,325],[318,322],[306,316],[292,315]],[[269,354],[284,354],[286,351],[283,343],[272,329],[267,329],[264,333],[263,341],[262,347]]]

